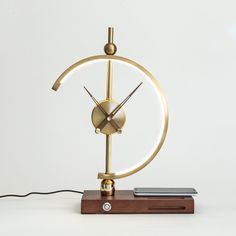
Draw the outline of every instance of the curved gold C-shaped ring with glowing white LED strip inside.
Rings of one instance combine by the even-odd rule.
[[[143,161],[141,161],[137,165],[135,165],[127,170],[123,170],[123,171],[119,171],[119,172],[115,172],[115,173],[98,173],[98,179],[119,179],[119,178],[123,178],[123,177],[127,177],[129,175],[132,175],[132,174],[140,171],[141,169],[143,169],[146,165],[148,165],[155,158],[157,153],[160,151],[160,149],[164,143],[167,129],[168,129],[168,109],[167,109],[167,103],[166,103],[166,99],[164,97],[164,94],[162,92],[162,89],[161,89],[160,85],[158,84],[157,80],[155,79],[155,77],[146,68],[144,68],[142,65],[138,64],[137,62],[132,61],[132,60],[125,58],[125,57],[120,57],[120,56],[115,56],[115,55],[91,56],[91,57],[84,58],[84,59],[74,63],[59,76],[59,78],[55,81],[52,89],[57,91],[59,89],[59,87],[61,86],[61,84],[65,81],[66,77],[70,73],[72,73],[74,70],[76,70],[78,67],[80,67],[81,65],[84,65],[86,63],[93,62],[93,61],[102,61],[102,60],[120,61],[120,62],[129,64],[129,65],[137,68],[140,72],[142,72],[146,78],[150,79],[150,81],[154,85],[155,89],[157,90],[157,93],[160,96],[162,109],[163,109],[163,126],[162,126],[162,130],[161,130],[160,140],[156,144],[156,146],[155,146],[153,152],[150,154],[150,156],[148,156]]]

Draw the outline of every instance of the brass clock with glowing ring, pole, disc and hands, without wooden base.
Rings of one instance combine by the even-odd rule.
[[[95,133],[98,135],[104,135],[106,138],[106,159],[105,159],[105,171],[98,173],[98,179],[101,179],[101,188],[100,191],[104,196],[112,196],[115,193],[114,187],[114,179],[119,179],[123,177],[127,177],[132,175],[142,168],[144,168],[147,164],[149,164],[157,155],[159,150],[162,147],[162,144],[165,140],[167,128],[168,128],[168,110],[166,99],[164,94],[159,86],[159,83],[155,79],[155,77],[142,65],[137,62],[130,60],[125,57],[116,56],[115,53],[117,51],[117,47],[113,42],[113,28],[108,28],[108,43],[104,47],[105,55],[96,55],[84,58],[69,68],[67,68],[55,81],[52,89],[57,91],[61,84],[65,81],[70,74],[78,69],[82,65],[86,65],[91,62],[96,61],[105,61],[107,63],[107,84],[106,84],[106,95],[104,100],[98,101],[94,94],[92,94],[89,88],[84,87],[88,96],[93,100],[95,107],[91,111],[91,123],[95,128]],[[158,140],[156,140],[155,147],[152,149],[150,155],[146,156],[141,162],[137,163],[135,166],[131,166],[126,170],[121,170],[119,172],[111,172],[111,142],[112,135],[118,133],[122,136],[122,131],[125,129],[125,104],[131,99],[132,95],[136,93],[137,90],[142,88],[142,82],[138,82],[136,87],[131,90],[131,92],[123,99],[115,98],[112,96],[112,70],[113,70],[113,62],[122,62],[125,65],[134,67],[140,72],[146,80],[153,85],[155,88],[155,92],[157,93],[160,100],[160,109],[161,109],[161,127],[160,127],[160,135],[158,136]],[[119,102],[117,102],[119,101]]]

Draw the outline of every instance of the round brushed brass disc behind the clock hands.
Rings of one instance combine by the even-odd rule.
[[[115,102],[114,100],[105,100],[101,101],[100,105],[103,107],[103,109],[106,111],[107,114],[110,114],[119,105],[119,103]],[[110,117],[106,118],[106,115],[103,114],[103,112],[100,110],[99,107],[96,106],[93,108],[91,118],[95,128],[98,128],[99,124],[101,124],[101,122],[103,122],[104,119],[108,121],[107,124],[104,126],[104,128],[100,130],[101,133],[113,134],[117,132],[116,128],[114,128],[110,123],[111,118]],[[112,117],[112,120],[121,129],[124,126],[126,120],[124,110],[121,108]]]

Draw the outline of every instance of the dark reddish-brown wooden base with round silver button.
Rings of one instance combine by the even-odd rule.
[[[86,190],[81,200],[82,214],[194,213],[192,197],[136,197],[132,190],[116,190],[114,196]]]

